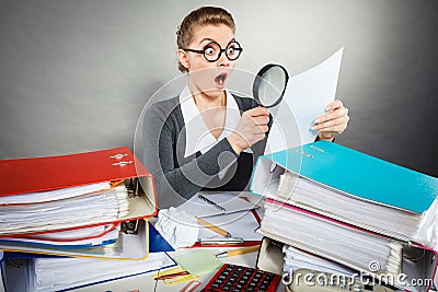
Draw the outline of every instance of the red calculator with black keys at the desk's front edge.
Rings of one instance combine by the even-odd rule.
[[[203,292],[274,292],[279,275],[264,270],[224,264],[201,290]]]

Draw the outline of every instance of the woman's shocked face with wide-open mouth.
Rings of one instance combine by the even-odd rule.
[[[214,51],[211,46],[217,46],[211,42],[219,44],[220,49],[224,49],[232,40],[235,40],[234,33],[224,24],[198,26],[195,27],[192,42],[187,48],[207,49],[206,54],[208,55],[209,51]],[[229,60],[224,51],[216,61],[208,61],[203,54],[188,50],[180,50],[178,58],[188,69],[192,93],[203,92],[210,97],[223,93],[227,79],[235,67],[235,60]]]

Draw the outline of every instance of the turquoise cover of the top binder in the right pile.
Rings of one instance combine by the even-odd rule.
[[[349,195],[416,213],[425,212],[438,196],[436,177],[326,141],[258,157],[250,186],[255,194],[261,160]]]

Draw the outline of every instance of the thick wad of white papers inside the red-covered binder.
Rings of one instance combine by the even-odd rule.
[[[88,192],[90,188],[92,192]],[[124,183],[114,187],[104,183],[0,197],[0,235],[112,222],[126,215],[128,208],[128,190]]]

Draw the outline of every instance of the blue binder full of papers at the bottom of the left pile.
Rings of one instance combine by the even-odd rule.
[[[141,224],[140,227],[142,227]],[[173,248],[165,243],[153,225],[149,226],[149,257],[143,260],[67,258],[4,253],[8,259],[25,260],[22,261],[25,265],[21,268],[3,265],[3,271],[7,273],[7,291],[65,291],[176,266],[176,262],[166,253],[174,252]],[[20,287],[21,283],[27,283],[27,287]],[[33,283],[35,287],[31,289],[30,284]],[[46,284],[53,287],[47,288]]]

